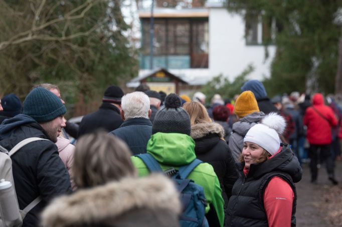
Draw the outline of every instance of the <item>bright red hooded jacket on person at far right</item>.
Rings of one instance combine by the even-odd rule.
[[[314,108],[323,115],[324,119]],[[311,144],[329,144],[332,141],[331,127],[337,125],[337,119],[332,109],[324,104],[323,95],[315,93],[312,106],[305,110],[304,124],[307,126],[306,137]]]

